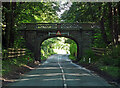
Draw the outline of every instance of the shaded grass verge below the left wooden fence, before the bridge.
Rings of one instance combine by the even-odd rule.
[[[29,61],[28,61],[29,57]],[[33,63],[33,58],[26,54],[23,57],[19,58],[11,58],[2,61],[2,75],[6,75],[9,72],[13,71],[15,68],[21,67],[23,65],[27,65],[28,63]]]

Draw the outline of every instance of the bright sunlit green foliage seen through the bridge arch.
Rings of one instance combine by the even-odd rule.
[[[54,51],[54,49],[65,50],[68,53],[70,46],[66,43],[66,40],[71,41],[71,39],[65,37],[54,37],[45,40],[41,45],[42,59],[45,59],[50,55],[57,54],[58,52]]]

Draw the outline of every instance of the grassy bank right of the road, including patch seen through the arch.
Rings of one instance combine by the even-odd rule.
[[[75,61],[76,57],[75,56],[69,56],[69,58],[73,61]],[[96,58],[96,57],[95,57]],[[106,65],[106,59],[100,59],[99,57],[97,59],[95,58],[91,58],[91,63],[89,63],[89,58],[83,58],[81,59],[78,64],[87,67],[90,70],[94,70],[94,71],[98,71],[97,73],[102,72],[102,75],[107,74],[107,77],[111,77],[113,78],[113,80],[116,80],[118,82],[120,75],[119,75],[119,67],[118,65],[115,64],[109,64]],[[110,62],[109,60],[107,60],[108,62]],[[106,76],[106,75],[104,75]]]

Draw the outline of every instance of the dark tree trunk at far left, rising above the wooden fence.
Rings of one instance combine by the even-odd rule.
[[[6,48],[12,47],[14,43],[14,9],[16,6],[16,2],[5,2],[3,6],[7,9],[5,12],[5,40],[4,46]]]

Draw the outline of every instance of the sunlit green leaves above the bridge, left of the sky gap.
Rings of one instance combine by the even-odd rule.
[[[56,14],[55,7],[53,2],[28,2],[20,5],[20,13],[17,16],[16,21],[19,23],[54,23],[59,22],[59,18]],[[19,5],[18,5],[19,6]],[[22,9],[21,9],[22,8]]]

